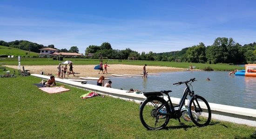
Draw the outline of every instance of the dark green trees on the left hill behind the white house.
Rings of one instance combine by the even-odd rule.
[[[18,49],[22,49],[22,50],[26,50],[26,51],[33,51],[33,52],[36,52],[36,53],[39,53],[40,52],[39,49],[42,49],[42,48],[57,49],[57,48],[54,47],[54,44],[44,46],[42,44],[37,44],[37,43],[29,42],[29,41],[26,41],[26,40],[15,40],[15,41],[12,41],[12,42],[5,42],[5,41],[1,40],[0,45],[7,46],[7,47],[18,48]],[[77,46],[72,46],[72,47],[70,47],[69,50],[61,49],[60,52],[75,52],[75,53],[78,53],[79,50],[78,50]]]

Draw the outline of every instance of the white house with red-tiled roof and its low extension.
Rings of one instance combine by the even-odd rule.
[[[54,48],[43,48],[39,49],[40,54],[39,57],[48,57],[48,56],[67,56],[67,57],[82,57],[83,54],[79,53],[68,53],[68,52],[58,52],[59,50]]]

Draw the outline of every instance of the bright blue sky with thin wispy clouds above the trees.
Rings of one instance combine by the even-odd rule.
[[[255,0],[0,0],[0,40],[69,50],[179,51],[217,37],[256,41]]]

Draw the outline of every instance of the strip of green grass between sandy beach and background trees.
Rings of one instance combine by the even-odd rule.
[[[70,60],[74,62],[74,65],[97,65],[99,64],[99,59],[85,59],[85,58],[64,58],[65,60]],[[1,60],[1,62],[7,62],[8,65],[18,65],[18,58],[7,58]],[[62,62],[62,61],[61,61]],[[53,60],[53,58],[21,58],[21,65],[58,65],[60,61]],[[104,59],[103,63],[108,62],[108,59]],[[207,64],[207,63],[175,63],[175,62],[165,62],[165,61],[142,61],[136,60],[135,62],[129,62],[128,60],[114,60],[114,62],[109,61],[108,64],[130,64],[130,65],[141,65],[148,64],[148,66],[166,66],[166,67],[176,67],[176,68],[189,68],[190,65],[196,66],[196,69],[204,69],[205,67],[211,67],[214,70],[234,70],[234,69],[244,69],[244,67],[238,67],[237,65],[229,64]]]

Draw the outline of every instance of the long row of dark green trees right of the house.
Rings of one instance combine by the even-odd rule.
[[[129,48],[125,50],[112,49],[111,44],[103,43],[101,46],[90,45],[86,49],[86,54],[94,53],[94,57],[108,57],[112,59],[128,59],[136,57],[139,60],[155,61],[175,61],[193,63],[247,63],[256,61],[256,43],[245,44],[236,43],[233,38],[216,38],[210,46],[203,43],[184,48],[181,51],[171,51],[164,53],[149,53],[133,51]]]

